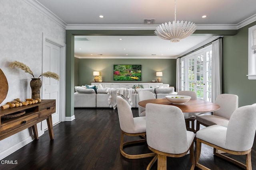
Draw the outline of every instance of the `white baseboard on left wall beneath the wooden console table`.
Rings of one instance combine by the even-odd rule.
[[[23,141],[20,141],[19,143],[16,143],[12,147],[0,152],[0,160],[4,159],[6,156],[9,156],[13,152],[19,150],[20,148],[24,147],[28,143],[32,142],[34,140],[34,135],[27,137]]]

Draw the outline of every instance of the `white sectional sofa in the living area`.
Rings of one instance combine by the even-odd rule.
[[[110,107],[108,89],[100,88],[96,90],[93,88],[86,88],[85,86],[76,86],[76,92],[74,93],[74,107]],[[174,87],[168,86],[164,88],[160,86],[159,88],[137,88],[132,89],[131,102],[132,107],[138,107],[138,92],[142,90],[147,90],[152,92],[156,98],[165,98],[167,95],[176,95],[174,92]],[[122,96],[124,97],[124,96]]]

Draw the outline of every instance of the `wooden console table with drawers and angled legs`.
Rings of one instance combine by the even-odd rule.
[[[0,140],[5,139],[24,129],[32,127],[34,138],[38,139],[36,123],[46,119],[50,139],[54,139],[52,129],[52,114],[56,112],[56,100],[42,100],[40,103],[28,106],[14,107],[11,109],[0,110],[0,117],[9,115],[18,111],[26,111],[24,115],[11,119],[0,119]]]

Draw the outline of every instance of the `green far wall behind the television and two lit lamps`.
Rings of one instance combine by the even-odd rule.
[[[75,86],[94,82],[93,71],[100,71],[103,82],[118,82],[113,81],[114,64],[141,64],[142,81],[140,82],[157,81],[156,72],[162,71],[161,81],[176,86],[176,59],[79,59],[79,84]]]

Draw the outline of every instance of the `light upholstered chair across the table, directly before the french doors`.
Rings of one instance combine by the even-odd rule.
[[[177,93],[177,95],[190,96],[191,100],[197,100],[196,92],[184,90],[184,91],[179,91]],[[191,117],[188,117],[188,118],[185,117],[187,130],[192,131],[192,132],[196,132],[195,120],[196,120],[196,116],[191,116]],[[191,127],[190,127],[190,122],[191,122]]]

